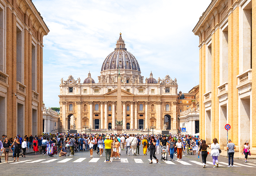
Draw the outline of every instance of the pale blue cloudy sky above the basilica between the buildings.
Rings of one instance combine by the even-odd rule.
[[[114,51],[120,31],[141,75],[177,78],[178,91],[199,84],[199,38],[192,32],[211,0],[33,0],[50,32],[44,36],[43,100],[59,107],[60,79],[92,78]],[[145,81],[145,79],[144,79]]]

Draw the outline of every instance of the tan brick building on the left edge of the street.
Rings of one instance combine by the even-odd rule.
[[[0,134],[42,134],[43,36],[30,0],[0,0]]]

